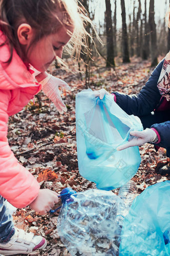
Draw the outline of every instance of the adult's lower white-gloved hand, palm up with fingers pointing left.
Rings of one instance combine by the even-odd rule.
[[[118,146],[116,148],[117,151],[123,150],[133,146],[141,146],[146,142],[153,142],[156,139],[156,133],[152,129],[146,128],[145,130],[139,131],[132,131],[130,135],[135,136],[132,138],[131,141],[125,143],[124,145]]]

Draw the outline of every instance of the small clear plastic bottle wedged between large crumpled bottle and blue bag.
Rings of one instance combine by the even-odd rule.
[[[137,195],[137,187],[134,181],[130,180],[122,187],[120,187],[118,196],[123,200],[124,204],[118,205],[118,214],[115,221],[118,225],[122,226],[124,217],[127,215],[132,201]]]

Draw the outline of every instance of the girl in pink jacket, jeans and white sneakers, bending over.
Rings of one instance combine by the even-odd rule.
[[[11,152],[6,137],[8,116],[20,111],[41,87],[60,113],[66,111],[57,78],[45,70],[56,57],[61,58],[68,41],[67,51],[79,52],[82,41],[85,42],[83,23],[87,20],[74,0],[0,0],[0,253],[3,255],[28,254],[46,246],[41,236],[14,228],[5,199],[18,208],[29,205],[40,214],[48,212],[58,201],[54,191],[39,189],[34,177]],[[31,67],[39,71],[36,79]]]

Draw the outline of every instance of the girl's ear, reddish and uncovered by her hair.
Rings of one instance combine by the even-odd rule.
[[[21,45],[29,45],[33,37],[33,31],[29,24],[22,23],[17,28],[17,38]]]

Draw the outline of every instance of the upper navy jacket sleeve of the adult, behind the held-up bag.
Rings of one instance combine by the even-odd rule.
[[[127,113],[137,116],[149,114],[159,103],[161,95],[157,89],[157,81],[161,72],[164,59],[156,66],[148,81],[138,94],[127,95],[113,92],[116,103]]]

